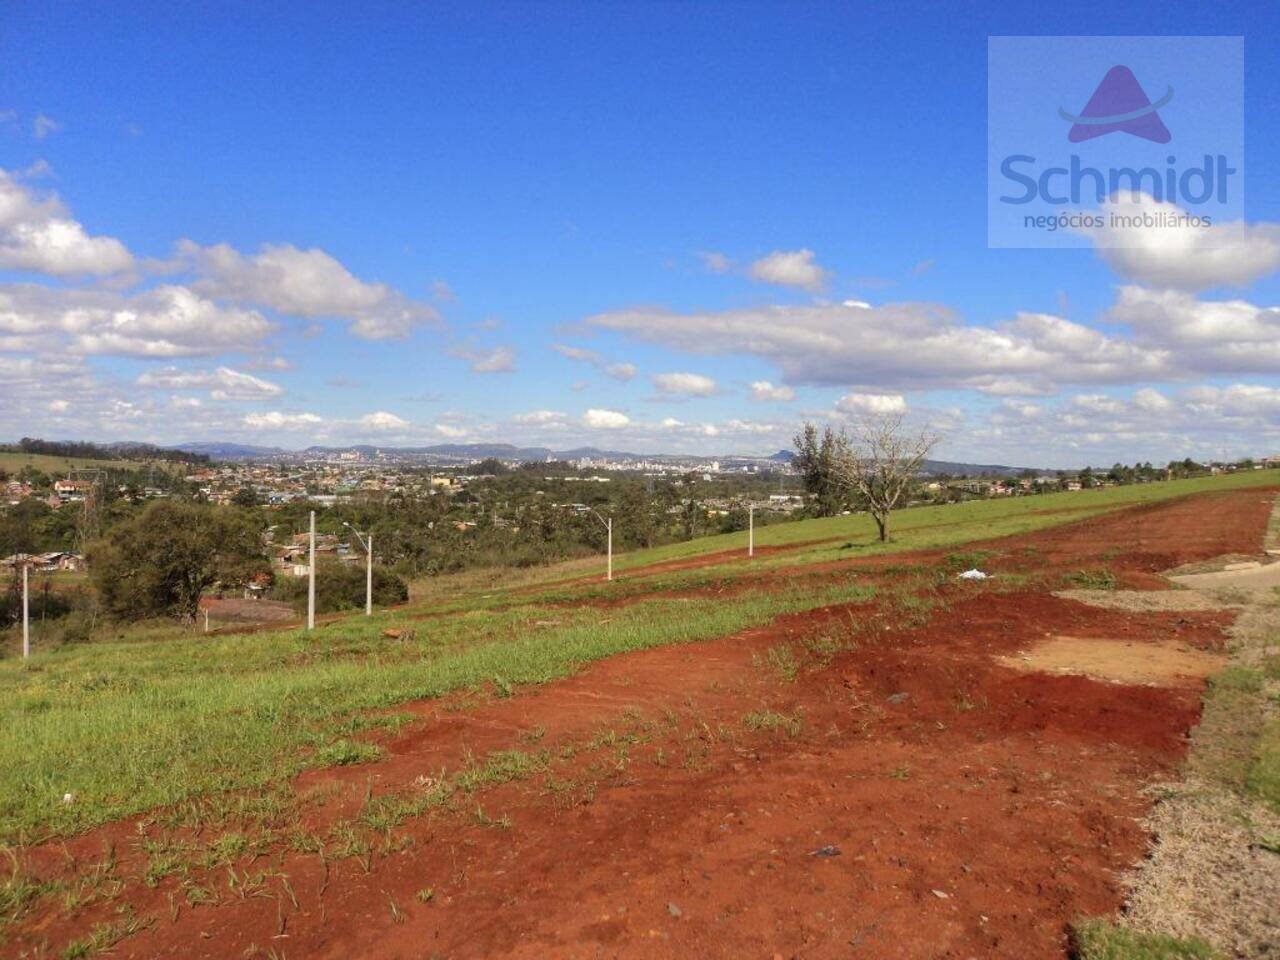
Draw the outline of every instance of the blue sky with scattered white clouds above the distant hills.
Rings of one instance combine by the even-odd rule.
[[[1280,447],[1274,6],[261,6],[0,14],[0,435]],[[988,36],[1157,28],[1244,37],[1235,246],[988,248]]]

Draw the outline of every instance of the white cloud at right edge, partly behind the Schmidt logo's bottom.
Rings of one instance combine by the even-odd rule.
[[[1098,255],[1120,276],[1153,287],[1206,289],[1243,287],[1280,270],[1280,224],[1221,223],[1176,225],[1185,211],[1146,193],[1102,207],[1105,229],[1091,232]],[[1142,218],[1169,227],[1116,227],[1115,216]]]

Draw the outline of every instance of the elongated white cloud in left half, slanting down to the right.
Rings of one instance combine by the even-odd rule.
[[[201,247],[180,241],[177,255],[200,276],[196,289],[209,297],[292,316],[340,317],[351,323],[351,333],[369,340],[406,337],[439,320],[434,307],[384,283],[358,279],[323,250],[278,243],[246,256],[225,243]]]

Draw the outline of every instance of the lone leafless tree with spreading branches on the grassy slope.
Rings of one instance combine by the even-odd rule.
[[[854,429],[847,452],[838,458],[837,474],[841,485],[867,504],[882,543],[888,540],[890,515],[941,439],[924,429],[908,429],[902,413],[870,415]]]

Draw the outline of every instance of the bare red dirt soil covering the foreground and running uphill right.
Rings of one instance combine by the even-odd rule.
[[[1258,553],[1270,499],[1202,495],[1006,538],[992,541],[992,566],[1106,566],[1156,585],[1158,570]],[[468,754],[579,749],[552,780],[474,797],[489,820],[465,805],[407,822],[397,836],[412,845],[369,873],[355,859],[326,868],[278,851],[237,870],[283,872],[291,895],[270,882],[239,899],[218,872],[220,902],[196,908],[173,878],[133,882],[122,899],[156,922],[114,955],[1061,957],[1073,920],[1119,906],[1119,874],[1148,845],[1140,790],[1175,773],[1199,691],[1024,673],[995,658],[1051,634],[1216,649],[1229,620],[1100,609],[998,577],[934,599],[918,616],[886,599],[616,657],[465,710],[410,705],[422,722],[384,741],[385,760],[298,782],[333,791],[307,813],[312,826]],[[801,667],[790,682],[768,666],[783,646]],[[750,730],[744,716],[765,708],[803,730]],[[584,746],[603,728],[639,742]],[[493,826],[503,817],[509,828]],[[64,849],[87,858],[108,837],[137,860],[131,831],[50,845],[32,863],[51,868]],[[828,846],[838,852],[815,854]],[[429,902],[416,896],[425,888]],[[113,904],[49,911],[5,948],[52,956],[45,945],[115,916]]]

